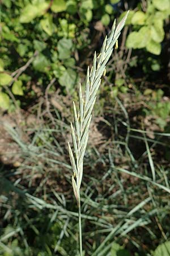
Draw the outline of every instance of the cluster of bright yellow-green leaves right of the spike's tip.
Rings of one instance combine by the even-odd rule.
[[[124,14],[123,14],[124,15]],[[126,46],[128,48],[141,49],[155,55],[160,55],[161,43],[164,39],[164,20],[170,15],[169,0],[147,1],[146,11],[130,11],[127,24],[133,25]]]

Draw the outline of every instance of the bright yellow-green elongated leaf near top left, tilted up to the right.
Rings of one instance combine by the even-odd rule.
[[[37,16],[41,16],[44,14],[44,11],[48,8],[48,3],[42,1],[41,3],[37,3],[36,5],[27,5],[22,11],[20,15],[20,22],[21,23],[29,23]]]

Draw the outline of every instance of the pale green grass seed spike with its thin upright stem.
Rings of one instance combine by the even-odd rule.
[[[81,209],[80,209],[80,185],[82,183],[83,176],[83,158],[86,151],[86,146],[88,142],[88,131],[90,129],[90,123],[92,118],[92,110],[95,105],[97,91],[101,84],[101,76],[105,71],[106,64],[112,55],[114,44],[120,36],[120,32],[124,27],[126,18],[121,20],[121,22],[116,27],[116,20],[114,20],[111,34],[107,38],[105,37],[103,46],[99,56],[96,57],[96,52],[94,55],[94,61],[92,68],[88,67],[86,75],[86,87],[85,93],[82,94],[82,86],[79,85],[79,108],[76,109],[75,103],[73,102],[74,109],[74,126],[71,123],[71,135],[73,139],[73,148],[71,149],[69,144],[69,155],[71,166],[73,168],[72,184],[73,191],[78,203],[79,209],[79,244],[80,244],[80,256],[83,255],[82,250],[82,228],[81,228]],[[75,180],[76,179],[76,180]]]

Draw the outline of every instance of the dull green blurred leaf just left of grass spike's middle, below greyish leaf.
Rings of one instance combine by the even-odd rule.
[[[62,76],[59,77],[59,84],[65,86],[67,90],[73,89],[73,86],[76,82],[76,72],[68,68],[63,73]]]

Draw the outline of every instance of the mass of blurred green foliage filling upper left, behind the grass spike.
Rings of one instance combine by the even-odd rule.
[[[44,86],[54,76],[63,87],[63,92],[71,92],[79,80],[75,52],[86,48],[90,43],[86,28],[92,19],[100,19],[107,26],[113,20],[113,7],[110,2],[2,1],[1,86],[8,85],[11,81],[10,74],[37,51],[28,71],[32,74],[31,82]],[[15,81],[12,93],[16,96],[28,94],[31,90],[27,85],[28,81],[30,79],[26,72],[24,77],[20,76]],[[6,102],[1,107],[8,109],[9,97],[5,92],[1,97]]]

